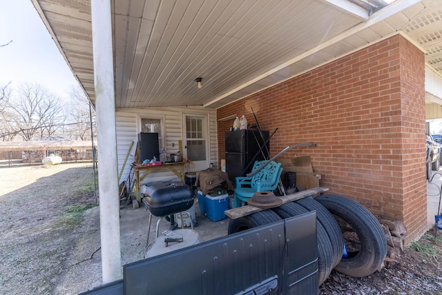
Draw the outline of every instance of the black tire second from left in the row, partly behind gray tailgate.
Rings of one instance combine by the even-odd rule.
[[[309,212],[309,210],[296,203],[286,203],[272,210],[284,219]],[[321,285],[332,272],[334,267],[334,253],[332,242],[329,239],[327,231],[319,222],[316,222],[316,241],[318,247],[318,281],[319,285]]]

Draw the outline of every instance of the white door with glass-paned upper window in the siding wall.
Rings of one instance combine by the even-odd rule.
[[[209,167],[209,135],[207,116],[184,115],[184,156],[195,164],[187,171],[201,171]]]

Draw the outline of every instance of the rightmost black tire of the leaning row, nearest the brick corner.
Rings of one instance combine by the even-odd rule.
[[[336,265],[336,271],[347,276],[362,277],[381,269],[387,256],[387,241],[376,217],[363,205],[344,196],[323,195],[315,199],[348,223],[360,241],[360,249],[348,252],[348,257],[342,258]]]

